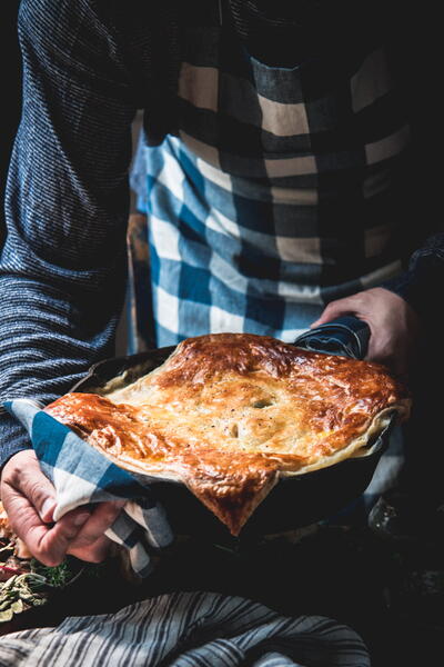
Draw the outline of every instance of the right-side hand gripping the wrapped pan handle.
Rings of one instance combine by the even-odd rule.
[[[375,287],[345,299],[331,301],[311,325],[319,327],[343,315],[354,315],[370,327],[366,359],[389,366],[400,376],[407,375],[408,364],[420,332],[420,319],[400,296]]]

